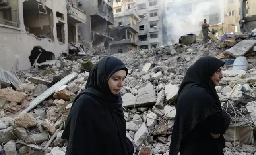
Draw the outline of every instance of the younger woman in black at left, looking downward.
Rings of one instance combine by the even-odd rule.
[[[116,57],[104,57],[89,74],[85,90],[74,100],[61,138],[66,155],[132,155],[120,90],[128,69]]]

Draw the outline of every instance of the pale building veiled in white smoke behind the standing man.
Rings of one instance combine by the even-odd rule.
[[[167,44],[177,42],[184,34],[199,34],[204,19],[211,25],[224,22],[223,0],[166,0],[165,3]]]

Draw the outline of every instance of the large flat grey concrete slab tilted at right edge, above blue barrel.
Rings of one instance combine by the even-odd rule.
[[[226,49],[225,54],[229,54],[235,58],[244,56],[256,44],[256,40],[242,40],[235,46]]]

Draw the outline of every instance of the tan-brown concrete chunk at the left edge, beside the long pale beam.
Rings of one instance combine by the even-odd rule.
[[[10,102],[21,103],[27,94],[24,92],[14,91],[12,89],[3,88],[0,89],[0,99],[7,100]]]

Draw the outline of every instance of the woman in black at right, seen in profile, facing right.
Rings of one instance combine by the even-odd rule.
[[[224,64],[205,56],[188,68],[178,91],[169,155],[223,155],[230,121],[215,86],[223,78]]]

